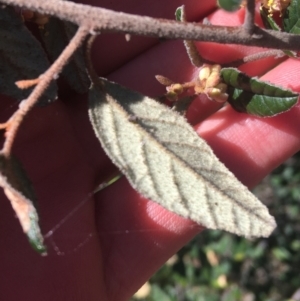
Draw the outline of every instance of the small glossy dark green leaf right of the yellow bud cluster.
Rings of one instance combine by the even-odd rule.
[[[238,112],[270,117],[290,110],[298,101],[298,93],[251,78],[235,68],[221,70],[228,85],[228,102]]]

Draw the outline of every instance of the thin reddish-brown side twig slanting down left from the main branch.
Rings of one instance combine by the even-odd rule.
[[[35,105],[35,103],[47,89],[51,81],[57,76],[58,73],[61,72],[63,67],[68,63],[73,53],[80,47],[86,36],[89,34],[90,29],[91,28],[86,25],[82,25],[79,27],[76,34],[74,35],[68,46],[61,53],[61,55],[51,65],[51,67],[40,76],[40,81],[33,89],[30,96],[20,103],[18,111],[15,112],[13,116],[9,119],[8,126],[6,128],[7,131],[5,133],[6,139],[2,150],[6,156],[10,155],[15,136],[25,115]]]

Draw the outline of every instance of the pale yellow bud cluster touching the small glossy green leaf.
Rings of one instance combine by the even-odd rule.
[[[227,85],[221,82],[221,66],[204,64],[199,70],[199,78],[194,87],[196,94],[204,93],[217,102],[226,102]]]

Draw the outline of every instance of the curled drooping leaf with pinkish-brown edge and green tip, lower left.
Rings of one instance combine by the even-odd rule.
[[[31,183],[17,159],[3,153],[0,153],[0,186],[10,200],[29,243],[37,252],[46,255]]]

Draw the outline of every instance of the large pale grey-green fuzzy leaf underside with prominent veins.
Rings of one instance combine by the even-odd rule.
[[[89,93],[93,129],[138,192],[207,228],[270,235],[276,224],[267,208],[184,117],[137,92],[101,82],[102,90],[92,87]]]

